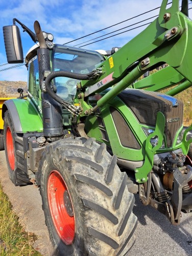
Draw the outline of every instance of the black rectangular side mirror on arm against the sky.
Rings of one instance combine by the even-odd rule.
[[[8,63],[23,63],[23,51],[19,28],[16,25],[4,26],[3,32]]]

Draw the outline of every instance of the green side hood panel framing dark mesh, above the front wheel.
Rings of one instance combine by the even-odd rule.
[[[122,145],[110,113],[110,107],[117,109],[118,112],[122,114],[126,123],[132,128],[132,132],[140,145],[140,149],[127,148]],[[110,145],[113,154],[116,154],[118,158],[131,161],[145,159],[145,152],[142,150],[142,145],[146,140],[146,135],[141,128],[143,125],[141,126],[138,123],[131,110],[122,102],[122,100],[117,97],[113,99],[110,104],[106,104],[105,107],[101,108],[101,114],[99,116],[103,119],[105,128],[100,128],[97,118],[90,116],[85,123],[85,131],[88,136],[95,137],[97,141]],[[93,124],[93,127],[90,126],[91,123]],[[107,143],[105,139],[102,139],[101,129],[107,132],[109,143]]]

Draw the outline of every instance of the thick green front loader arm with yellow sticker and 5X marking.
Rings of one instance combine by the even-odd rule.
[[[183,1],[183,6],[184,4],[186,5],[186,1]],[[110,95],[106,94],[104,99],[98,101],[98,105],[104,105],[143,73],[163,63],[167,63],[178,73],[177,83],[182,79],[192,82],[192,22],[179,11],[179,0],[173,0],[169,9],[166,9],[166,5],[167,0],[163,0],[159,17],[100,65],[102,76],[95,80],[82,81],[82,88],[91,85],[91,89],[85,91],[85,97],[117,84],[118,89],[114,86],[107,93]]]

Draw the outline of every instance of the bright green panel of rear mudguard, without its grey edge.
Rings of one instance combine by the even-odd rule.
[[[42,118],[33,102],[29,98],[26,100],[14,99],[13,102],[19,114],[22,132],[42,132]]]

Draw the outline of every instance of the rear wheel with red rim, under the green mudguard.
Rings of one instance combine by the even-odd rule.
[[[22,134],[14,131],[8,110],[4,118],[4,139],[9,178],[15,185],[31,183],[25,172]]]

